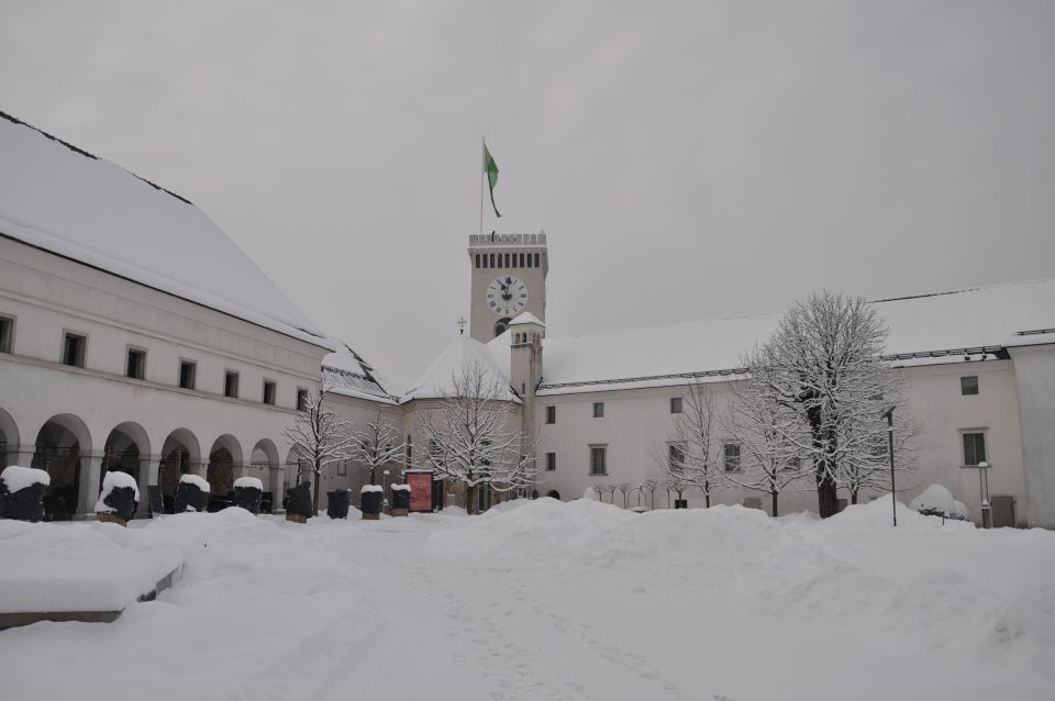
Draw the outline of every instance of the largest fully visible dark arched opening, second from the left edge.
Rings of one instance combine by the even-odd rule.
[[[91,452],[91,438],[85,422],[73,414],[58,414],[48,419],[36,434],[36,452],[33,464],[46,470],[52,483],[44,494],[44,519],[69,521],[77,510],[80,497],[81,455]],[[102,489],[93,486],[96,494]]]

